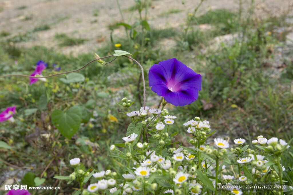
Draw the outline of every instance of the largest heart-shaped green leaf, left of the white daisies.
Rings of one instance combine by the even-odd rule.
[[[81,123],[82,111],[79,106],[73,106],[66,113],[56,109],[52,112],[51,120],[60,133],[71,139]]]

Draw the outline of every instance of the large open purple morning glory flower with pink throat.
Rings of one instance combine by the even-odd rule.
[[[161,61],[149,69],[151,90],[174,106],[185,106],[195,101],[201,90],[201,81],[200,74],[176,58]]]

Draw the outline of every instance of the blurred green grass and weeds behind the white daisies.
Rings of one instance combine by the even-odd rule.
[[[132,9],[138,8],[134,6]],[[173,9],[165,14],[180,11]],[[228,136],[231,140],[242,137],[251,143],[252,139],[262,134],[264,137],[274,136],[289,141],[293,138],[293,61],[290,57],[293,49],[284,45],[284,36],[288,32],[278,31],[289,24],[284,23],[284,16],[255,20],[252,16],[239,19],[238,14],[216,10],[199,17],[188,15],[190,29],[181,31],[157,29],[141,23],[142,30],[136,28],[135,36],[131,34],[130,39],[113,36],[112,42],[96,53],[102,57],[113,54],[116,49],[129,51],[134,59],[144,65],[146,75],[154,63],[176,57],[203,78],[197,101],[184,107],[168,107],[178,121],[183,123],[199,116],[216,127],[215,136]],[[93,15],[98,15],[98,12]],[[199,24],[209,24],[209,29],[194,26]],[[34,31],[49,28],[43,25]],[[235,32],[240,34],[236,40],[223,43],[217,49],[211,47],[214,37]],[[43,46],[28,49],[14,46],[13,43],[33,39],[33,33],[19,34],[0,43],[1,75],[30,75],[40,59],[48,63],[43,75],[57,73],[52,67],[54,63],[64,72],[78,69],[93,59],[92,53],[72,56]],[[2,31],[1,37],[8,34]],[[85,39],[67,34],[56,34],[55,39],[60,42],[60,47],[86,44]],[[156,48],[166,40],[167,49]],[[120,43],[121,46],[115,47],[113,43]],[[283,54],[288,58],[282,58],[281,67],[274,66],[274,57],[279,52],[277,48],[282,51],[287,49]],[[93,164],[100,169],[119,166],[119,163],[105,161],[105,158],[108,158],[109,145],[121,142],[131,121],[118,113],[124,110],[115,104],[115,100],[120,101],[126,96],[135,100],[134,108],[140,108],[142,82],[139,81],[139,69],[121,57],[106,66],[95,62],[78,73],[84,75],[84,81],[64,83],[60,78],[65,76],[61,75],[50,77],[45,85],[38,81],[30,86],[29,79],[25,77],[0,79],[1,111],[7,106],[16,105],[18,112],[15,124],[5,122],[0,126],[1,140],[12,146],[12,149],[4,150],[0,155],[1,178],[13,169],[32,166],[36,176],[46,178],[46,185],[64,186],[64,183],[54,183],[52,177],[68,175],[68,170],[60,168],[58,161],[68,162],[71,156],[85,158],[85,166],[88,167]],[[42,107],[41,94],[46,93],[50,99]],[[159,105],[160,99],[156,98],[150,87],[147,87],[147,97],[149,106]],[[93,120],[85,120],[72,139],[66,139],[54,128],[50,116],[54,109],[67,110],[76,104],[86,107]],[[182,126],[177,125],[178,128]],[[45,133],[50,133],[52,137],[39,136]],[[186,139],[184,132],[180,135],[182,140]],[[290,160],[293,158],[292,149],[293,146],[282,159],[286,169],[293,166]],[[17,167],[12,168],[11,164]],[[293,178],[293,174],[288,170],[285,180],[292,185],[290,178]],[[22,179],[24,183],[28,182]],[[69,184],[63,187],[62,192],[71,193],[74,191],[72,187],[74,185]]]

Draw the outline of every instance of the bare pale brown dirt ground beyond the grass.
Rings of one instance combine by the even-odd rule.
[[[239,1],[206,0],[199,8],[197,15],[221,8],[238,11]],[[247,9],[250,0],[242,1],[243,7]],[[188,13],[193,12],[200,0],[152,0],[150,2],[147,20],[151,26],[182,28],[186,24]],[[256,13],[259,17],[265,14],[278,15],[287,11],[292,4],[292,0],[255,0],[255,2]],[[135,2],[119,0],[119,4],[125,22],[133,24],[139,15],[137,11],[130,11],[129,8],[133,7]],[[164,15],[172,9],[179,12]],[[11,33],[5,38],[32,31],[35,27],[47,24],[50,26],[49,30],[33,33],[35,40],[17,43],[17,45],[24,47],[43,45],[53,47],[65,54],[94,52],[96,48],[109,40],[108,26],[122,21],[116,0],[0,0],[0,10],[2,10],[0,11],[0,32]],[[66,33],[72,37],[88,39],[88,41],[79,46],[59,47],[58,40],[54,38],[57,33]],[[116,29],[113,34],[124,36],[124,29],[122,27]]]

